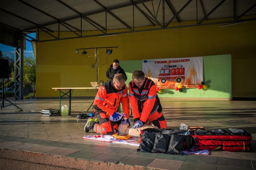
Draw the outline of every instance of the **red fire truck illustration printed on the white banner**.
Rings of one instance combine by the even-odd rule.
[[[183,65],[164,65],[158,74],[158,82],[165,83],[168,80],[176,80],[178,83],[181,80],[185,80],[185,68]]]

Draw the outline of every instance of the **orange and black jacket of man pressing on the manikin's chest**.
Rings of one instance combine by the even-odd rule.
[[[145,78],[141,89],[133,81],[129,82],[129,98],[134,121],[139,118],[145,123],[149,115],[156,111],[158,113],[162,111],[160,100],[156,94],[156,84],[148,78]]]

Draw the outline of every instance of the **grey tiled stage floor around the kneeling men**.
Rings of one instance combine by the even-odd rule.
[[[58,109],[58,100],[22,100],[17,102],[17,106],[23,111],[18,111],[13,105],[3,107],[0,110],[0,149],[137,165],[144,169],[256,169],[256,101],[161,102],[170,128],[178,128],[180,123],[185,123],[188,127],[203,126],[209,130],[240,128],[252,134],[251,150],[246,152],[215,150],[211,151],[209,156],[137,152],[138,147],[136,146],[83,139],[82,137],[95,133],[92,131],[85,133],[83,129],[87,119],[77,119],[76,115],[86,111],[91,103],[92,100],[72,100],[72,113],[67,117],[40,115],[41,109]],[[68,101],[62,101],[63,104],[68,105]],[[2,152],[0,166],[6,164],[10,159],[8,156],[3,157]],[[3,163],[1,160],[5,162]],[[23,163],[28,162],[28,164],[34,162],[46,165],[48,163],[46,160],[29,156],[18,157],[16,160],[23,161]],[[27,167],[31,167],[31,165],[27,165]]]

